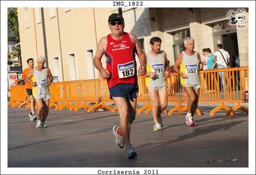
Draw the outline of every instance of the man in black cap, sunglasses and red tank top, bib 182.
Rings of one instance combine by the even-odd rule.
[[[124,32],[124,19],[119,13],[108,17],[111,34],[99,40],[94,66],[101,77],[107,79],[110,96],[119,111],[119,126],[113,127],[115,144],[119,148],[126,146],[126,157],[137,156],[130,143],[130,125],[135,119],[137,95],[137,70],[135,54],[139,57],[139,74],[146,73],[146,56],[142,51],[137,37]],[[101,57],[105,54],[106,68],[103,68]]]

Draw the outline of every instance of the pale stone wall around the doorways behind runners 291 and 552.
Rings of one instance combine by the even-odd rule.
[[[149,8],[149,19],[155,19],[154,22],[150,20],[151,34],[157,33],[158,36],[163,37],[162,49],[167,51],[171,64],[175,61],[174,50],[171,47],[172,33],[182,29],[190,29],[191,37],[195,39],[194,50],[201,54],[203,48],[210,48],[215,52],[217,42],[220,43],[223,40],[221,36],[214,38],[211,24],[228,20],[226,14],[229,10],[236,11],[237,8]],[[246,18],[248,19],[248,16]],[[248,26],[248,20],[243,24]],[[243,62],[243,66],[248,66],[248,27],[236,31],[226,29],[224,32],[225,34],[237,33],[240,63]],[[202,54],[201,57],[203,57]]]

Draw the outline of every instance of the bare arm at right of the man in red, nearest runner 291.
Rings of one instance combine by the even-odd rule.
[[[143,52],[143,50],[141,49],[141,46],[139,45],[139,40],[138,38],[130,33],[130,38],[132,40],[132,42],[135,44],[135,47],[136,47],[136,54],[137,56],[139,57],[139,62],[140,62],[140,66],[139,66],[139,75],[145,75],[146,74],[146,56]]]

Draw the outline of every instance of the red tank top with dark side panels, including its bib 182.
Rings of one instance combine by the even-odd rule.
[[[135,45],[128,33],[121,40],[114,40],[111,34],[107,36],[105,51],[107,70],[111,77],[107,79],[108,88],[121,83],[137,83],[137,65],[135,61]]]

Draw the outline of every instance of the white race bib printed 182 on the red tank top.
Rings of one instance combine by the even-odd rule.
[[[135,75],[135,67],[134,67],[134,62],[131,61],[129,63],[124,63],[124,64],[120,64],[117,65],[117,69],[118,69],[118,77],[119,79],[123,79],[126,77],[132,77],[133,75]]]

